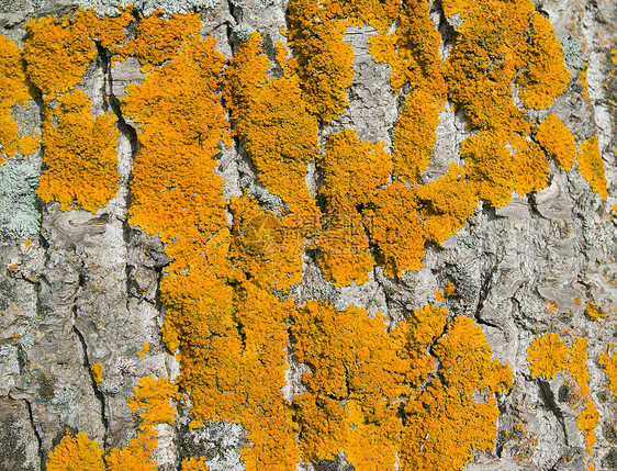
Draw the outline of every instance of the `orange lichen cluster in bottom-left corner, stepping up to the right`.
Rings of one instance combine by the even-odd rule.
[[[169,400],[177,386],[168,379],[142,378],[135,386],[135,394],[128,397],[133,412],[142,418],[136,438],[128,440],[124,448],[112,448],[103,457],[98,442],[85,433],[75,437],[68,434],[52,450],[47,461],[49,471],[156,471],[152,453],[157,446],[159,424],[172,424],[176,410]],[[197,468],[199,470],[199,468]]]

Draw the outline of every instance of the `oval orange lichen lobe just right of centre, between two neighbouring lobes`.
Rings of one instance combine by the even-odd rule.
[[[379,190],[371,203],[363,217],[375,246],[375,261],[390,277],[403,270],[418,270],[424,238],[412,190],[396,181]]]

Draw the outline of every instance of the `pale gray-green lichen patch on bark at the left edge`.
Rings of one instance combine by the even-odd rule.
[[[0,234],[29,237],[41,227],[40,201],[34,192],[40,171],[14,157],[0,166]]]

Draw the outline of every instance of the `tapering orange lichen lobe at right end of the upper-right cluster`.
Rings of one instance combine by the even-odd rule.
[[[550,20],[535,13],[530,21],[527,68],[516,78],[519,97],[527,108],[549,108],[565,91],[570,74]]]

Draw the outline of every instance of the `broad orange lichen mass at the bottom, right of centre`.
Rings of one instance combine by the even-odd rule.
[[[312,367],[302,378],[307,392],[294,400],[303,457],[315,461],[346,450],[363,471],[393,469],[399,453],[403,469],[460,469],[473,449],[492,448],[498,415],[493,393],[512,385],[512,371],[491,359],[473,321],[446,324],[446,310],[426,306],[386,333],[380,316],[357,307],[300,307],[294,351]],[[442,380],[433,377],[431,346]],[[428,389],[417,388],[427,377]],[[476,402],[478,391],[487,401]]]

